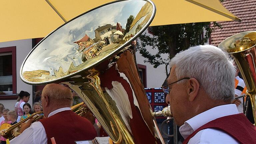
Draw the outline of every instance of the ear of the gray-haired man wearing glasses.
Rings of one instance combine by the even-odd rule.
[[[192,102],[196,96],[199,93],[199,82],[195,78],[190,78],[188,80],[188,89],[187,89],[187,94],[188,94],[188,100]]]

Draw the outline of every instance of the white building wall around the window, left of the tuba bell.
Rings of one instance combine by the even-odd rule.
[[[32,106],[32,86],[25,84],[20,79],[20,67],[28,53],[32,49],[32,39],[26,39],[26,40],[17,40],[17,41],[10,41],[10,42],[1,42],[0,48],[3,47],[11,47],[16,46],[16,81],[17,81],[17,93],[19,93],[21,90],[27,91],[30,93],[30,100],[28,103]],[[0,100],[0,103],[4,104],[5,108],[8,108],[9,110],[14,110],[14,105],[16,103],[16,100]]]

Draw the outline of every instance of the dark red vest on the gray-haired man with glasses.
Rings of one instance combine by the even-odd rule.
[[[220,117],[206,123],[189,135],[182,144],[187,144],[197,132],[207,128],[224,131],[241,144],[256,144],[256,127],[243,113]]]

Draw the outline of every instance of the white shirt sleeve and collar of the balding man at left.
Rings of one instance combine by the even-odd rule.
[[[58,112],[71,110],[70,107],[60,108],[49,113],[48,117]],[[41,122],[34,122],[29,128],[24,130],[19,136],[10,141],[10,144],[47,144],[47,135]]]

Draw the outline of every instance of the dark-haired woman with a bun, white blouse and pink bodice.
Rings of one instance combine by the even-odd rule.
[[[16,114],[18,116],[17,122],[20,121],[21,116],[24,114],[23,113],[23,105],[29,101],[30,94],[26,91],[20,91],[19,97],[20,97],[20,101],[16,105],[16,108],[17,108]]]

